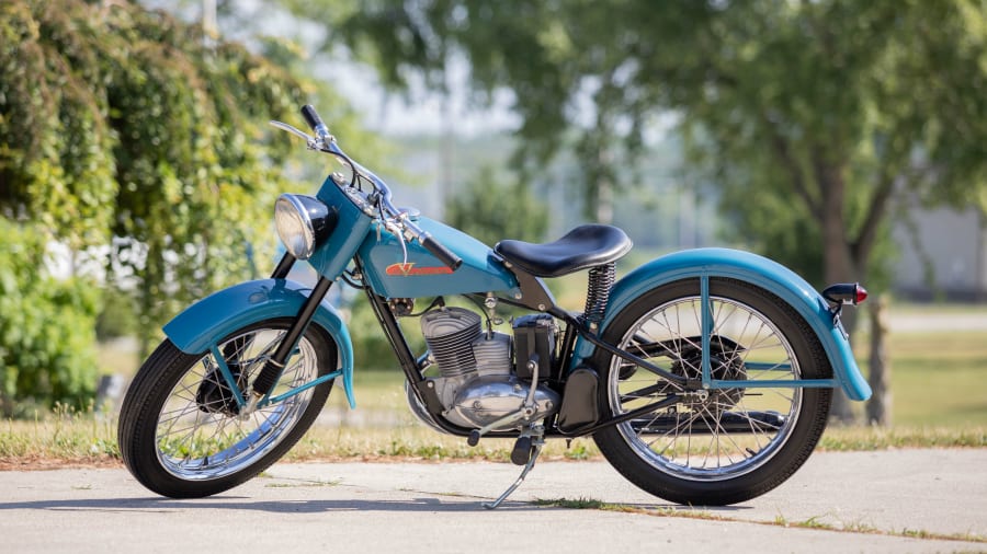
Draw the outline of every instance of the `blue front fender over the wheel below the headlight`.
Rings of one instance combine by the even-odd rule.
[[[285,279],[241,282],[186,308],[164,325],[164,334],[182,351],[202,354],[223,337],[247,325],[272,318],[297,315],[309,291],[305,285]],[[325,300],[316,309],[313,323],[336,341],[347,401],[351,408],[356,407],[350,332],[339,312]]]

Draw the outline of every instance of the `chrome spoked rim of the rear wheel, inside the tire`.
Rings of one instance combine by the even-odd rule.
[[[711,343],[718,345],[715,356],[711,347],[714,378],[799,379],[792,345],[764,314],[715,296],[710,297],[710,305]],[[651,363],[697,378],[702,371],[701,314],[697,296],[661,304],[631,326],[621,347],[633,353],[649,345],[649,355],[643,357]],[[656,348],[656,344],[662,347]],[[644,369],[628,372],[626,365],[614,358],[608,382],[614,415],[678,392],[661,383],[665,381]],[[667,411],[620,424],[617,430],[636,455],[661,472],[689,481],[723,481],[768,463],[792,436],[803,402],[802,389],[794,388],[708,393],[706,400],[693,396]]]

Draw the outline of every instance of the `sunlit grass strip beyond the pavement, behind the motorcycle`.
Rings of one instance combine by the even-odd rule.
[[[570,303],[572,303],[570,301]],[[980,307],[893,308],[905,313],[969,314]],[[855,342],[858,359],[866,371],[866,336]],[[893,407],[890,428],[831,426],[819,448],[829,451],[887,448],[987,447],[987,331],[897,333],[889,336]],[[129,350],[104,345],[104,372],[133,374],[136,360]],[[290,460],[485,459],[507,461],[507,439],[484,439],[476,448],[465,439],[441,435],[418,424],[409,413],[399,370],[355,372],[356,409],[350,411],[341,388],[329,397],[322,418],[288,454]],[[858,404],[862,412],[863,405]],[[340,424],[341,422],[341,424]],[[549,440],[547,459],[599,458],[590,439],[567,448]],[[0,422],[0,466],[45,463],[115,463],[118,460],[113,416],[59,409],[29,420]]]

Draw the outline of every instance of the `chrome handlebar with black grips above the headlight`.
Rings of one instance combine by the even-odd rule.
[[[355,161],[351,160],[342,152],[342,150],[339,149],[339,147],[334,143],[334,139],[332,138],[332,136],[329,135],[329,128],[326,127],[326,124],[322,122],[322,118],[319,117],[319,113],[316,112],[315,107],[309,104],[302,106],[302,117],[305,118],[305,123],[307,123],[308,126],[311,127],[311,130],[318,138],[318,142],[316,143],[309,141],[309,148],[313,148],[314,146],[321,146],[321,148],[317,149],[342,157],[352,166],[354,174],[361,174],[371,183],[373,183],[374,188],[376,188],[377,201],[379,203],[381,215],[383,217],[389,218],[390,221],[400,226],[400,228],[407,231],[407,233],[412,239],[418,240],[418,243],[421,244],[422,247],[431,252],[432,255],[438,257],[440,262],[449,266],[452,270],[456,270],[461,265],[463,265],[463,258],[461,258],[453,251],[449,250],[442,243],[436,241],[434,236],[421,230],[411,221],[407,220],[407,215],[402,213],[394,206],[394,204],[392,204],[390,188],[386,183],[384,183],[384,181],[374,175],[373,172],[366,170]],[[277,127],[291,132],[297,131],[297,129],[292,128],[290,125],[279,124],[277,122],[272,122],[272,124],[276,124]],[[297,131],[296,134],[304,136],[304,134],[302,134],[300,131]],[[400,232],[400,230],[398,230],[398,232]]]

